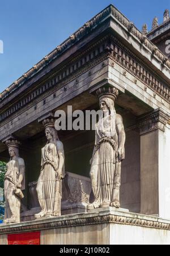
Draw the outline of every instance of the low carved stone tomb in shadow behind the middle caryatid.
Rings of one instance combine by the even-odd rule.
[[[37,182],[29,183],[30,210],[21,214],[22,221],[35,220],[35,214],[41,211],[37,193]],[[61,214],[73,214],[87,211],[90,202],[91,181],[82,175],[67,172],[62,181]]]

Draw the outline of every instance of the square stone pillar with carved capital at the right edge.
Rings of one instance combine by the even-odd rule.
[[[141,134],[141,213],[170,217],[169,116],[155,110],[139,117]]]

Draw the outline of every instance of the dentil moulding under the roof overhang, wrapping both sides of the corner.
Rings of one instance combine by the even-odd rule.
[[[91,58],[89,56],[91,56]],[[135,54],[125,47],[116,37],[108,33],[103,39],[91,44],[83,53],[71,58],[67,64],[57,69],[43,81],[35,84],[29,92],[22,94],[22,98],[10,102],[11,106],[8,104],[2,107],[0,111],[0,127],[5,125],[8,120],[19,116],[33,105],[36,109],[36,104],[41,102],[41,100],[45,100],[46,96],[50,94],[54,94],[54,97],[57,96],[57,90],[61,89],[61,87],[64,88],[64,91],[67,90],[67,84],[74,81],[74,79],[75,84],[78,84],[79,76],[87,72],[87,70],[94,68],[94,66],[100,62],[102,67],[107,66],[107,59],[109,57],[113,60],[113,63],[117,62],[117,64],[121,65],[122,68],[125,69],[125,73],[127,70],[133,74],[134,82],[136,81],[137,83],[139,80],[144,83],[146,85],[145,90],[147,90],[147,86],[150,87],[153,91],[154,98],[156,95],[159,95],[170,103],[168,83],[164,81],[160,75],[152,72],[145,62],[135,56]],[[89,76],[90,75],[91,71],[89,71]],[[45,101],[43,104],[45,104]]]

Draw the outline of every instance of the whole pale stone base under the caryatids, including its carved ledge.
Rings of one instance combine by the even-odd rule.
[[[169,244],[170,221],[108,207],[20,224],[0,225],[0,245],[8,234],[40,232],[41,245]]]

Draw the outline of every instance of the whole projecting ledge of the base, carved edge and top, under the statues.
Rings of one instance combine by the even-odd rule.
[[[158,217],[138,215],[135,213],[108,212],[102,213],[79,213],[50,219],[29,221],[19,224],[0,225],[0,235],[19,232],[32,232],[36,230],[68,228],[73,226],[96,225],[96,224],[121,224],[142,226],[145,228],[155,228],[170,230],[170,221],[159,219]]]

